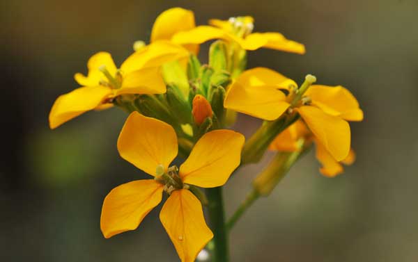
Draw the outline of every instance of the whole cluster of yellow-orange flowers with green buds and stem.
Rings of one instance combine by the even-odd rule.
[[[342,86],[313,85],[311,75],[298,87],[272,69],[246,70],[247,51],[305,51],[303,44],[280,33],[253,29],[252,17],[211,19],[209,25],[196,26],[192,11],[171,8],[155,20],[150,43],[135,42],[120,67],[109,53],[99,52],[88,60],[86,76],[75,74],[81,87],[56,99],[49,113],[51,129],[88,110],[115,106],[130,113],[118,152],[153,177],[125,183],[107,195],[100,219],[105,238],[137,229],[165,192],[169,197],[160,220],[181,261],[194,261],[212,238],[212,259],[228,261],[228,230],[312,145],[327,177],[343,172],[341,163],[353,163],[348,121],[363,119],[355,97]],[[202,65],[199,45],[209,40],[215,41],[208,64]],[[247,142],[228,129],[237,112],[264,120]],[[234,170],[257,163],[268,149],[277,156],[225,222],[222,186]],[[176,156],[186,159],[180,167],[171,165]]]

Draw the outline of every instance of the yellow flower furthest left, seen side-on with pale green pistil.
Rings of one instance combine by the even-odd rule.
[[[88,75],[75,74],[75,80],[82,88],[56,99],[49,113],[50,128],[55,129],[88,110],[109,108],[111,100],[118,95],[166,92],[160,66],[187,57],[186,49],[164,40],[135,52],[120,69],[116,68],[109,53],[93,55],[87,63]]]

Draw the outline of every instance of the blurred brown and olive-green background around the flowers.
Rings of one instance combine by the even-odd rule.
[[[116,150],[125,113],[47,123],[92,54],[110,51],[120,65],[173,6],[194,10],[197,24],[252,15],[255,31],[304,43],[304,56],[262,49],[248,66],[344,85],[365,113],[351,124],[355,165],[327,179],[314,152],[304,156],[233,229],[232,261],[418,261],[416,0],[1,1],[0,261],[178,261],[160,207],[136,231],[100,232],[104,196],[146,177]],[[236,128],[249,136],[258,123],[240,115]],[[263,163],[227,183],[228,215]]]

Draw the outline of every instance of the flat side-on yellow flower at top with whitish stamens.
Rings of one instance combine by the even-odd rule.
[[[231,17],[227,21],[211,19],[211,26],[196,26],[189,31],[173,35],[177,44],[201,44],[208,40],[222,39],[237,43],[242,49],[256,50],[261,47],[304,54],[303,44],[288,40],[281,33],[251,33],[254,28],[252,17]]]

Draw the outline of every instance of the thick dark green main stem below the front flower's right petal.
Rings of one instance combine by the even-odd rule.
[[[228,232],[225,226],[224,200],[222,199],[222,187],[208,188],[208,211],[210,229],[213,232],[214,248],[212,252],[213,262],[229,262]]]

